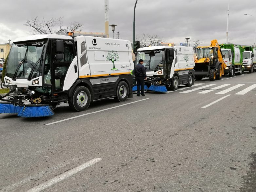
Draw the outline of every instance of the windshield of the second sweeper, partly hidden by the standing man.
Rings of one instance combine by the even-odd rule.
[[[155,71],[163,69],[163,54],[164,49],[138,51],[136,64],[140,59],[144,60],[144,67],[146,71]]]

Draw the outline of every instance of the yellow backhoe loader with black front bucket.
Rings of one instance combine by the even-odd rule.
[[[222,79],[226,64],[216,39],[211,41],[210,46],[197,47],[195,55],[194,70],[196,80],[201,80],[204,77],[209,77],[210,81]]]

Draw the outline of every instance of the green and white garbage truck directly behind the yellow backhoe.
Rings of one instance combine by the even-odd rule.
[[[232,43],[221,44],[221,52],[225,64],[224,75],[241,75],[244,71],[242,47]]]

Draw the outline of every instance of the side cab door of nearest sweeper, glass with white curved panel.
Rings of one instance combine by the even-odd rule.
[[[63,58],[57,57],[61,52],[57,51],[56,42],[52,40],[52,77],[53,93],[68,90],[78,78],[77,57],[74,40],[63,40]],[[61,40],[62,41],[62,40]],[[62,54],[62,53],[61,53]]]

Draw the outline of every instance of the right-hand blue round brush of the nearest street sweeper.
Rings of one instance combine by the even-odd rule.
[[[46,104],[25,105],[18,113],[19,117],[47,117],[51,115],[54,115],[54,112]]]

